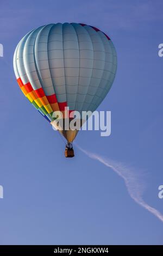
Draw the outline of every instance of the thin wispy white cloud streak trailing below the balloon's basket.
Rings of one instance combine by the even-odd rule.
[[[137,175],[132,169],[124,166],[122,163],[117,163],[115,161],[105,159],[102,156],[99,156],[94,153],[90,153],[89,151],[86,151],[82,148],[80,148],[78,145],[77,147],[85,153],[87,156],[89,156],[91,159],[95,159],[101,163],[103,163],[105,166],[111,168],[114,170],[115,173],[117,173],[123,180],[127,187],[128,193],[130,197],[139,205],[141,205],[143,208],[151,212],[153,215],[155,215],[157,218],[159,218],[160,221],[163,222],[163,215],[161,212],[153,208],[152,206],[148,205],[142,198],[142,193],[144,191],[145,185],[140,180],[140,176]]]

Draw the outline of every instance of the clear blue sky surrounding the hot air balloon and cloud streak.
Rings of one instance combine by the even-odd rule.
[[[1,1],[0,244],[162,244],[163,223],[130,198],[111,168],[74,146],[65,159],[59,134],[18,87],[17,42],[48,23],[77,22],[108,34],[117,51],[115,82],[98,110],[111,136],[80,131],[80,147],[122,162],[146,184],[143,199],[163,214],[162,1]]]

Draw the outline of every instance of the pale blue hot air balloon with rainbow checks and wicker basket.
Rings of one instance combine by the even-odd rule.
[[[14,53],[18,85],[32,105],[55,125],[53,112],[95,111],[115,78],[117,57],[109,36],[82,23],[41,26],[25,35]],[[65,119],[65,116],[63,117]],[[59,130],[74,156],[78,130]]]

